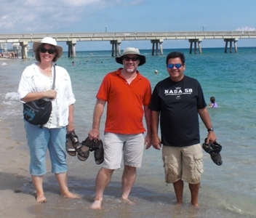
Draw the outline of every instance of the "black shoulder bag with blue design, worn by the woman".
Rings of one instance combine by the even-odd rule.
[[[52,83],[52,90],[55,89],[55,65],[54,65],[54,76]],[[52,113],[52,101],[46,101],[43,99],[34,100],[23,104],[23,118],[25,121],[33,125],[47,124],[49,116]]]

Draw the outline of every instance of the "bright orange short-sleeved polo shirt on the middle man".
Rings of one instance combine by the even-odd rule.
[[[139,71],[131,84],[128,84],[121,75],[121,68],[108,73],[103,78],[96,97],[107,102],[105,132],[116,134],[145,132],[143,105],[148,106],[151,100],[151,84]]]

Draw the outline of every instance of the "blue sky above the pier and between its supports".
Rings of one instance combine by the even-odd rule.
[[[84,33],[156,31],[256,31],[255,0],[0,0],[2,33]],[[106,28],[107,26],[107,28]],[[60,44],[67,50],[65,43]],[[256,39],[239,39],[255,47]],[[151,48],[150,41],[122,41],[121,49]],[[166,48],[189,48],[166,40]],[[225,47],[222,39],[201,47]],[[109,41],[77,42],[76,50],[110,50]]]

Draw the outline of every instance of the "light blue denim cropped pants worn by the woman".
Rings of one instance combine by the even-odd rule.
[[[29,171],[33,176],[46,174],[45,155],[47,148],[52,162],[52,173],[60,174],[67,171],[65,161],[65,134],[66,127],[48,129],[29,124],[24,121],[28,148],[30,150]]]

